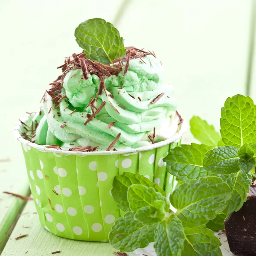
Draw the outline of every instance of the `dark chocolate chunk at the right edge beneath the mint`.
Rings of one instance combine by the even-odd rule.
[[[224,221],[230,251],[240,256],[256,256],[256,186],[250,186],[247,201]]]

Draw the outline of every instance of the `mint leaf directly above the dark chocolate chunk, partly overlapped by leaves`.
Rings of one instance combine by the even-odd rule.
[[[229,215],[231,212],[237,212],[246,201],[252,183],[252,176],[250,173],[239,171],[231,175],[220,175],[220,177],[230,186],[232,193],[229,204],[223,210],[224,214]]]

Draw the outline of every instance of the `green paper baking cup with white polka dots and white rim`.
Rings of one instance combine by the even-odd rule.
[[[169,196],[175,179],[166,172],[163,158],[180,144],[187,127],[184,120],[172,138],[150,146],[77,152],[30,143],[20,135],[21,123],[15,125],[43,227],[68,239],[108,241],[113,222],[122,214],[111,196],[114,177],[123,172],[139,173]]]

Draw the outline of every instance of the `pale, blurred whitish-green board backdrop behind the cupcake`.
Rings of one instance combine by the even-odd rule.
[[[180,113],[218,128],[227,96],[250,91],[256,100],[255,15],[256,0],[0,0],[0,159],[12,160],[0,162],[0,232],[20,207],[1,191],[28,188],[12,127],[38,109],[64,57],[80,51],[73,34],[81,21],[102,17],[126,46],[153,49]],[[188,133],[183,143],[191,139]]]

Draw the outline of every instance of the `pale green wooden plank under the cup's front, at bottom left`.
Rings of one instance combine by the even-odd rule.
[[[34,202],[29,201],[1,256],[47,256],[58,250],[61,253],[56,255],[61,256],[113,256],[109,243],[74,241],[52,235],[41,226],[38,215],[33,212]],[[29,236],[15,240],[23,234]]]

